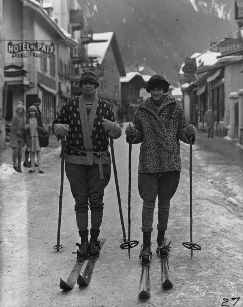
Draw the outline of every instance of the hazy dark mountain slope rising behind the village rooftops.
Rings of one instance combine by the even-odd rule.
[[[194,1],[194,0],[193,0]],[[189,0],[89,0],[94,16],[89,24],[94,33],[116,33],[124,63],[144,62],[170,82],[179,80],[178,71],[186,56],[201,52],[237,25],[227,19],[195,11]],[[215,1],[212,0],[214,3]],[[195,0],[198,10],[202,10]],[[206,14],[207,13],[207,14]]]

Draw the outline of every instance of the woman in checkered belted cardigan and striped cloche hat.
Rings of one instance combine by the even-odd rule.
[[[96,74],[90,70],[83,72],[79,84],[83,94],[67,101],[52,125],[58,139],[66,137],[65,172],[75,199],[76,223],[81,237],[77,258],[99,255],[104,189],[111,172],[108,139],[117,139],[122,133],[110,104],[96,96],[99,86]],[[90,242],[88,207],[91,211]]]

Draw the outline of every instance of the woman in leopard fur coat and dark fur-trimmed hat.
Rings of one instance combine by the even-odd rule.
[[[152,76],[145,85],[150,97],[135,111],[134,126],[127,126],[126,140],[141,143],[138,165],[138,191],[143,200],[143,247],[139,258],[143,264],[152,258],[151,233],[156,197],[158,196],[157,250],[160,257],[169,254],[165,231],[170,200],[179,184],[181,172],[180,143],[195,143],[196,129],[188,125],[183,109],[174,97],[166,94],[170,84],[164,77]]]

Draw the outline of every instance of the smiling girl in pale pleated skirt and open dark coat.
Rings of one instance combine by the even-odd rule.
[[[37,108],[35,106],[29,107],[29,114],[26,115],[25,124],[25,142],[27,150],[30,152],[31,168],[29,173],[35,172],[35,154],[37,157],[39,173],[43,174],[41,167],[41,147],[38,139],[38,132],[44,132],[45,129],[42,125],[40,117],[37,117]]]

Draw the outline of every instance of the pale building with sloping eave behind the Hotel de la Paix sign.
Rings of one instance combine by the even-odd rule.
[[[52,18],[52,7],[45,9],[41,1],[30,0],[4,0],[2,3],[4,129],[1,148],[18,101],[28,109],[33,97],[38,96],[44,126],[50,131],[59,99],[71,97],[71,79],[67,78],[71,75],[70,48],[77,45],[77,41]]]

